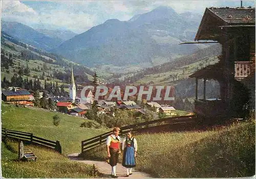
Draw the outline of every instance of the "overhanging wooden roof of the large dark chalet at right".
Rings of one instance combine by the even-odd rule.
[[[195,40],[219,40],[222,28],[255,28],[255,8],[206,8]]]

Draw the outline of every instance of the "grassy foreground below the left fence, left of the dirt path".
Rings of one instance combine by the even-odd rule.
[[[54,150],[25,145],[37,156],[36,162],[17,160],[18,143],[1,143],[2,176],[6,178],[88,178],[97,177],[93,166],[71,161]]]

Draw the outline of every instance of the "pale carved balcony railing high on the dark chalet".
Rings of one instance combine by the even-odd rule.
[[[242,80],[246,78],[252,72],[251,61],[235,61],[234,62],[234,78]]]

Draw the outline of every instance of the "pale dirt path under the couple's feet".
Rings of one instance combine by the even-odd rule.
[[[94,164],[95,167],[99,170],[99,172],[103,174],[103,177],[105,177],[105,178],[111,177],[110,176],[111,175],[111,166],[109,164],[107,164],[106,162],[101,162],[101,161],[82,160],[77,157],[78,154],[79,153],[72,153],[72,154],[67,155],[67,157],[70,160],[75,160],[77,162],[82,162],[82,163],[91,164],[91,165]],[[150,174],[140,172],[135,169],[133,169],[132,175],[130,175],[129,177],[126,177],[125,167],[123,167],[121,164],[117,164],[116,174],[117,174],[118,178],[151,178]]]

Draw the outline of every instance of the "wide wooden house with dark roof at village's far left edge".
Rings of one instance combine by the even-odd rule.
[[[13,104],[33,106],[34,97],[27,90],[13,87],[12,90],[2,90],[2,100]]]

